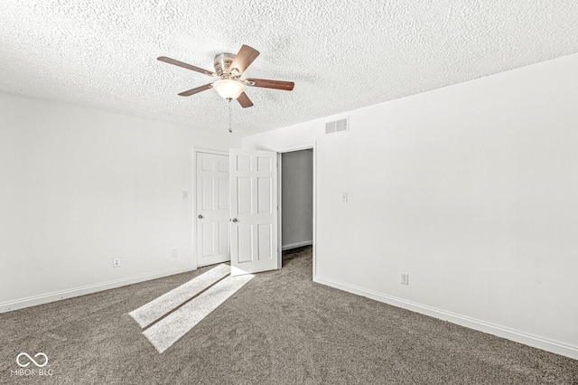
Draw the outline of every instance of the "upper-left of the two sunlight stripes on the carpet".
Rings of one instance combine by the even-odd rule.
[[[182,305],[193,296],[197,296],[201,291],[213,285],[220,279],[227,277],[231,272],[228,265],[219,265],[204,272],[198,277],[192,278],[186,284],[172,289],[170,292],[159,296],[146,305],[129,313],[135,321],[141,326],[146,327],[154,323],[163,315],[172,312],[173,309]]]

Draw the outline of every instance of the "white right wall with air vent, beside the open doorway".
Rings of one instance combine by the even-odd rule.
[[[316,281],[578,358],[577,68],[573,54],[243,146],[317,141]]]

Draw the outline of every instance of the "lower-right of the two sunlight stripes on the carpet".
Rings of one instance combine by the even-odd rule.
[[[145,330],[144,336],[153,343],[157,352],[164,352],[253,277],[251,274],[226,277]]]

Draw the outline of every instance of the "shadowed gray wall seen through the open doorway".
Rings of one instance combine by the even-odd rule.
[[[312,150],[282,154],[283,249],[313,242],[313,153]]]

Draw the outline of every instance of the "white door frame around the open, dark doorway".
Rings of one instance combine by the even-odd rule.
[[[273,150],[277,152],[277,202],[279,204],[279,215],[277,218],[277,231],[278,231],[278,239],[279,239],[279,245],[278,245],[278,255],[279,258],[281,258],[281,262],[283,262],[283,258],[282,258],[282,249],[283,249],[283,235],[282,235],[282,219],[283,219],[283,201],[282,201],[282,192],[283,192],[283,185],[282,185],[282,180],[283,180],[283,175],[282,175],[282,170],[283,170],[283,164],[282,164],[282,154],[284,153],[293,153],[295,151],[301,151],[301,150],[312,150],[312,157],[313,157],[313,235],[312,235],[312,240],[313,240],[313,248],[312,248],[312,267],[313,267],[313,271],[312,271],[312,277],[313,279],[316,277],[316,264],[315,264],[315,255],[317,254],[316,250],[317,250],[317,142],[311,142],[311,143],[305,143],[302,144],[300,146],[291,146],[291,147],[284,147],[282,149],[277,149],[277,150]],[[283,266],[283,263],[280,264],[280,266]]]

